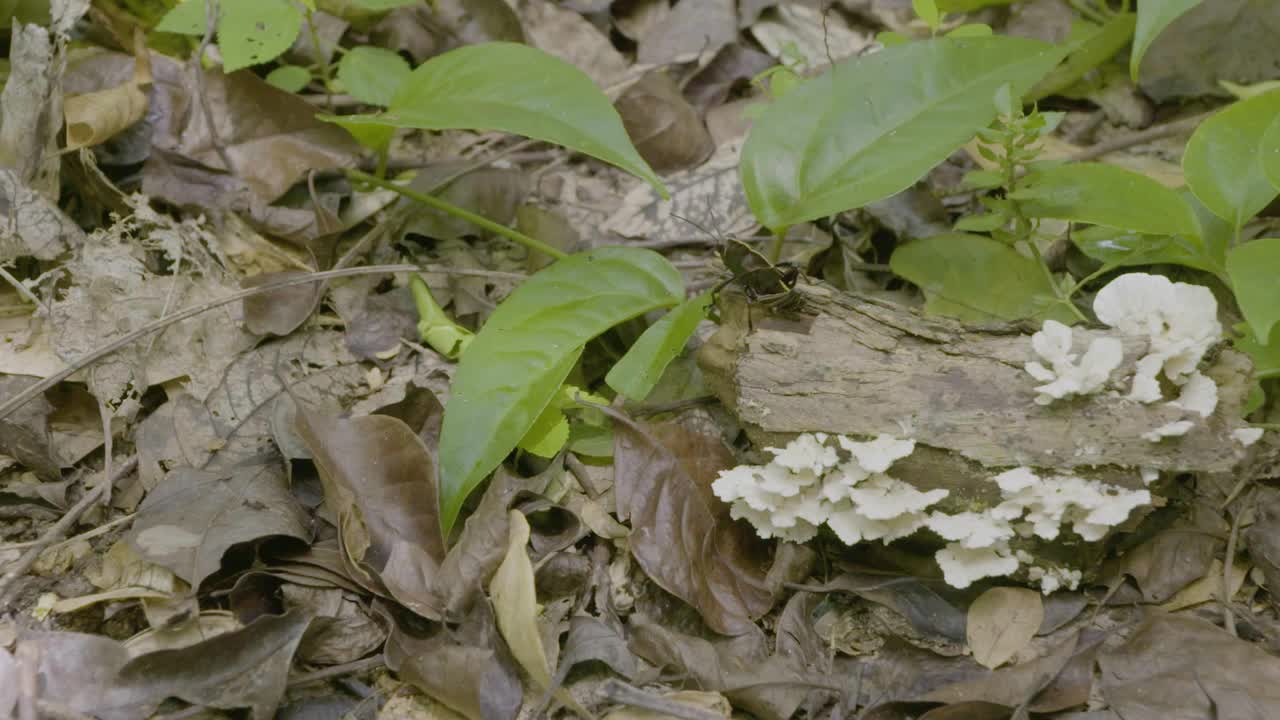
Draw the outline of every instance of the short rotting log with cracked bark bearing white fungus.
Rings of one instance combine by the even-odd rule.
[[[1107,392],[1042,406],[1023,369],[1037,360],[1033,327],[965,327],[822,284],[800,292],[805,307],[790,315],[724,293],[722,325],[699,355],[708,384],[758,446],[801,432],[913,437],[916,452],[893,475],[957,500],[989,498],[992,474],[1019,465],[1142,487],[1138,468],[1229,471],[1244,457],[1231,430],[1245,427],[1251,364],[1228,347],[1204,369],[1219,384],[1213,415],[1153,443],[1142,434],[1187,413],[1124,397],[1144,341],[1125,342]]]

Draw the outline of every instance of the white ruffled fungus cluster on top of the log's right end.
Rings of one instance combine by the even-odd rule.
[[[1158,442],[1183,436],[1196,427],[1194,416],[1213,414],[1217,384],[1197,369],[1208,348],[1222,337],[1217,300],[1207,287],[1128,273],[1098,291],[1093,313],[1119,334],[1147,341],[1147,352],[1134,369],[1130,400],[1144,404],[1165,400],[1161,375],[1179,388],[1169,406],[1189,416],[1143,433],[1143,438]],[[1025,365],[1033,378],[1046,383],[1036,388],[1037,404],[1098,392],[1121,363],[1117,337],[1096,338],[1083,355],[1073,354],[1071,345],[1071,328],[1055,320],[1046,320],[1041,332],[1032,336],[1032,348],[1048,363],[1048,366],[1039,361]]]

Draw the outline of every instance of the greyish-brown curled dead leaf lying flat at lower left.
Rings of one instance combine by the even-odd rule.
[[[266,457],[221,471],[170,471],[138,507],[128,538],[138,555],[198,588],[232,546],[271,536],[311,539],[284,469]]]

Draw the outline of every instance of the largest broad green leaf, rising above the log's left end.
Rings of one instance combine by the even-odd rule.
[[[773,231],[893,195],[991,123],[991,97],[1019,95],[1061,51],[1018,37],[940,37],[851,58],[755,120],[742,186]]]

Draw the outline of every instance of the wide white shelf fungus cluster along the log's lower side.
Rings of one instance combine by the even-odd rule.
[[[1135,507],[1151,503],[1146,489],[1074,475],[1041,478],[1030,468],[1016,468],[992,478],[1001,495],[996,506],[982,512],[928,512],[946,489],[922,492],[886,474],[911,454],[914,441],[883,434],[869,442],[828,439],[822,433],[801,434],[786,447],[767,448],[772,462],[724,470],[712,489],[731,503],[732,518],[748,520],[763,538],[806,542],[826,524],[846,544],[887,543],[927,528],[948,541],[936,555],[948,584],[964,588],[1027,565],[1028,577],[1044,592],[1074,588],[1079,573],[1034,565],[1010,541],[1055,539],[1065,525],[1084,541],[1098,541]]]

